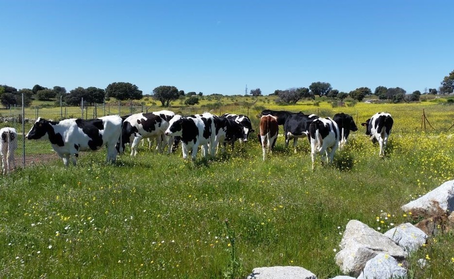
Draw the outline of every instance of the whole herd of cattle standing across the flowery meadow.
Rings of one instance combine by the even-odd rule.
[[[332,162],[336,149],[342,148],[347,141],[350,131],[357,131],[357,126],[348,114],[335,114],[333,119],[317,117],[314,114],[302,112],[263,110],[258,115],[258,138],[262,146],[263,160],[267,152],[272,152],[277,139],[278,126],[283,125],[285,146],[293,139],[296,147],[298,138],[308,138],[311,146],[312,169],[315,155],[326,156],[327,162]],[[379,142],[380,156],[385,155],[386,144],[391,133],[393,120],[389,113],[376,113],[365,123],[366,135],[373,142]],[[192,159],[197,155],[198,147],[202,155],[214,155],[224,150],[227,143],[234,147],[234,142],[248,140],[254,129],[250,119],[245,115],[211,113],[191,116],[176,115],[169,110],[150,113],[137,113],[130,116],[104,116],[96,119],[65,119],[59,122],[38,118],[31,130],[25,136],[28,140],[49,139],[53,150],[63,158],[68,166],[70,158],[76,164],[79,152],[99,150],[107,147],[107,161],[113,162],[117,153],[123,153],[129,145],[130,155],[137,154],[137,147],[142,139],[156,140],[157,149],[168,153],[175,151],[181,143],[183,158],[186,159],[192,151]],[[11,154],[17,147],[17,133],[14,128],[0,130],[0,151],[2,155],[3,172],[11,167]],[[10,150],[13,150],[11,152]],[[296,149],[295,149],[296,152]],[[8,155],[10,154],[10,155]]]

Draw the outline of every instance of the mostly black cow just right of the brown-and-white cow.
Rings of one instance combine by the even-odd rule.
[[[302,112],[290,114],[284,124],[285,147],[287,148],[289,141],[293,139],[293,147],[296,153],[298,138],[308,137],[309,139],[309,125],[315,119],[317,119],[315,114],[307,115]]]

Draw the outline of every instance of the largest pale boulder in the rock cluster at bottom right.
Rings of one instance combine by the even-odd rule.
[[[344,274],[353,276],[358,276],[366,263],[378,254],[388,254],[399,260],[405,258],[403,248],[357,220],[348,222],[340,248],[336,263]]]

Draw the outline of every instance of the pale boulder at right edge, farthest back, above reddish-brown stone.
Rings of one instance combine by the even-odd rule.
[[[446,181],[419,199],[402,206],[413,216],[432,217],[454,211],[454,180]]]

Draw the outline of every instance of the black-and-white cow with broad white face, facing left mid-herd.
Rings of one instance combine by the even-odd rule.
[[[192,159],[195,160],[199,145],[202,146],[202,155],[214,154],[215,149],[215,126],[211,113],[202,115],[196,114],[187,117],[175,115],[170,120],[169,127],[165,131],[166,136],[179,137],[183,158],[188,157],[188,152],[192,151]]]

